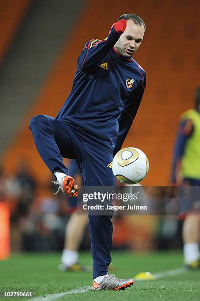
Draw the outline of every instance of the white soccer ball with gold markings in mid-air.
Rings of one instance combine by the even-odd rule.
[[[143,151],[136,148],[125,148],[114,156],[112,171],[120,182],[136,184],[148,174],[149,161]]]

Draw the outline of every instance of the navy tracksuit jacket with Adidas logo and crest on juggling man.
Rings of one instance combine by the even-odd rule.
[[[72,91],[56,117],[111,153],[120,150],[146,85],[142,67],[115,51],[120,35],[112,27],[105,40],[85,45]]]

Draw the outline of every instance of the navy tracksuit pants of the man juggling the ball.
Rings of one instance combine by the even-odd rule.
[[[60,170],[68,175],[64,158],[75,159],[85,186],[114,186],[114,175],[107,165],[111,153],[88,144],[84,137],[64,120],[37,115],[30,120],[30,130],[42,159],[51,172]],[[111,262],[112,216],[89,215],[93,257],[93,278],[107,273]]]

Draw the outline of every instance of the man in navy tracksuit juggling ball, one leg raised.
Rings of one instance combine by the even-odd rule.
[[[132,58],[145,33],[144,21],[124,14],[104,40],[87,42],[77,60],[72,91],[56,118],[37,115],[30,121],[36,147],[62,192],[77,196],[78,186],[62,157],[74,158],[84,185],[114,186],[109,163],[120,150],[138,111],[146,75]],[[88,215],[94,290],[121,290],[132,279],[108,273],[112,215]]]

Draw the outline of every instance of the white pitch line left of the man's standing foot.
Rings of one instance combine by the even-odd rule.
[[[82,294],[82,293],[86,293],[88,291],[92,290],[92,286],[83,286],[83,287],[79,287],[77,289],[71,290],[71,291],[67,291],[64,293],[59,293],[59,294],[49,294],[49,295],[43,295],[43,296],[39,296],[39,297],[35,297],[35,298],[31,298],[31,299],[27,299],[25,301],[50,301],[50,300],[56,300],[59,298],[62,298],[63,296],[66,295],[71,295],[71,294]]]

